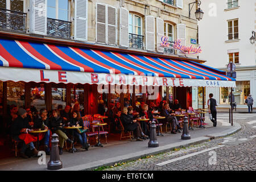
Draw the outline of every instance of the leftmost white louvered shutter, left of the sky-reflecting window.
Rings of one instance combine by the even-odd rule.
[[[30,0],[30,32],[47,34],[47,0]]]

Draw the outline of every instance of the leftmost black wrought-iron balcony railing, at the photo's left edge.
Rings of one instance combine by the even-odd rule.
[[[0,30],[26,33],[26,13],[0,9]]]

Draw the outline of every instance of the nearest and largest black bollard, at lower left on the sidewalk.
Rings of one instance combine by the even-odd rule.
[[[51,156],[47,164],[47,169],[49,170],[61,169],[63,166],[62,166],[62,162],[60,161],[60,154],[59,154],[59,148],[58,148],[59,136],[56,133],[52,135],[51,142],[52,142]]]

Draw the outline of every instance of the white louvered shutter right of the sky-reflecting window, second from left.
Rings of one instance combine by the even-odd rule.
[[[87,41],[88,35],[88,0],[75,0],[75,40]]]

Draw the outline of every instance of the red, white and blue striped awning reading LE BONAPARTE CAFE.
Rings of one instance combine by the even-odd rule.
[[[195,63],[0,39],[0,80],[118,85],[235,87],[236,79]]]

